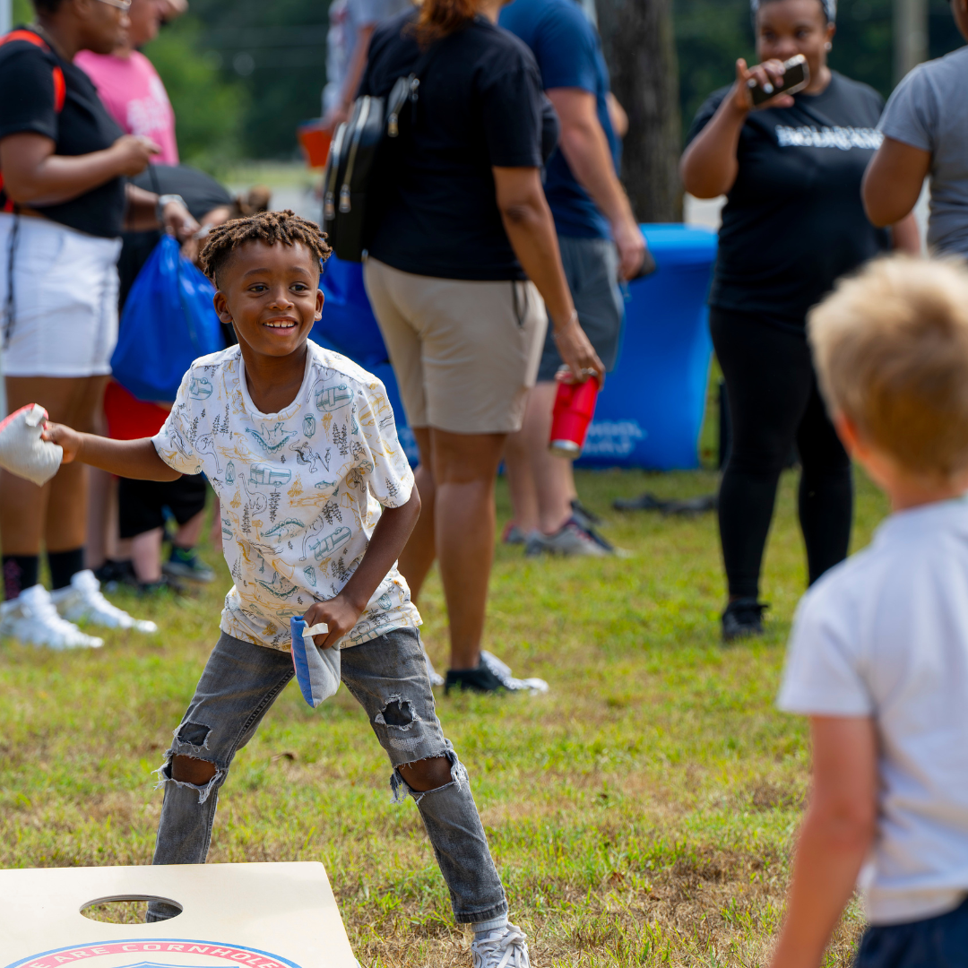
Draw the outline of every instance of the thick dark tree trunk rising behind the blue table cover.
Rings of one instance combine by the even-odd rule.
[[[621,180],[640,222],[681,222],[679,66],[672,0],[597,0],[612,91],[628,112]]]

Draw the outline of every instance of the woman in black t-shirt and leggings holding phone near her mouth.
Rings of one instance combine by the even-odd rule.
[[[710,293],[733,431],[719,490],[727,641],[763,631],[760,567],[794,443],[810,582],[847,555],[850,461],[817,388],[806,313],[838,277],[891,245],[920,250],[913,219],[887,231],[864,214],[861,181],[884,105],[827,66],[835,0],[752,0],[752,9],[764,63],[737,61],[736,83],[699,109],[681,161],[687,192],[727,197]],[[754,110],[748,82],[778,82],[796,54],[806,58],[808,86]]]

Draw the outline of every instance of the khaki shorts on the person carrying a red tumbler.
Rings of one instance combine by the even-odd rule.
[[[533,283],[416,276],[373,257],[363,281],[411,427],[521,429],[548,325]]]

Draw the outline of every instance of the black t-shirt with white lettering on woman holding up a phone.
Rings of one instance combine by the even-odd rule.
[[[729,93],[699,109],[688,141]],[[833,283],[890,245],[863,211],[864,169],[881,143],[884,101],[866,84],[832,72],[820,94],[792,107],[752,111],[727,195],[710,305],[802,327]]]

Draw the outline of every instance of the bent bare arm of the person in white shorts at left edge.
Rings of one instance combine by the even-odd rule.
[[[0,170],[4,191],[15,202],[55,205],[118,175],[136,175],[158,151],[150,138],[124,135],[104,151],[76,157],[55,155],[49,137],[23,132],[0,140]]]

